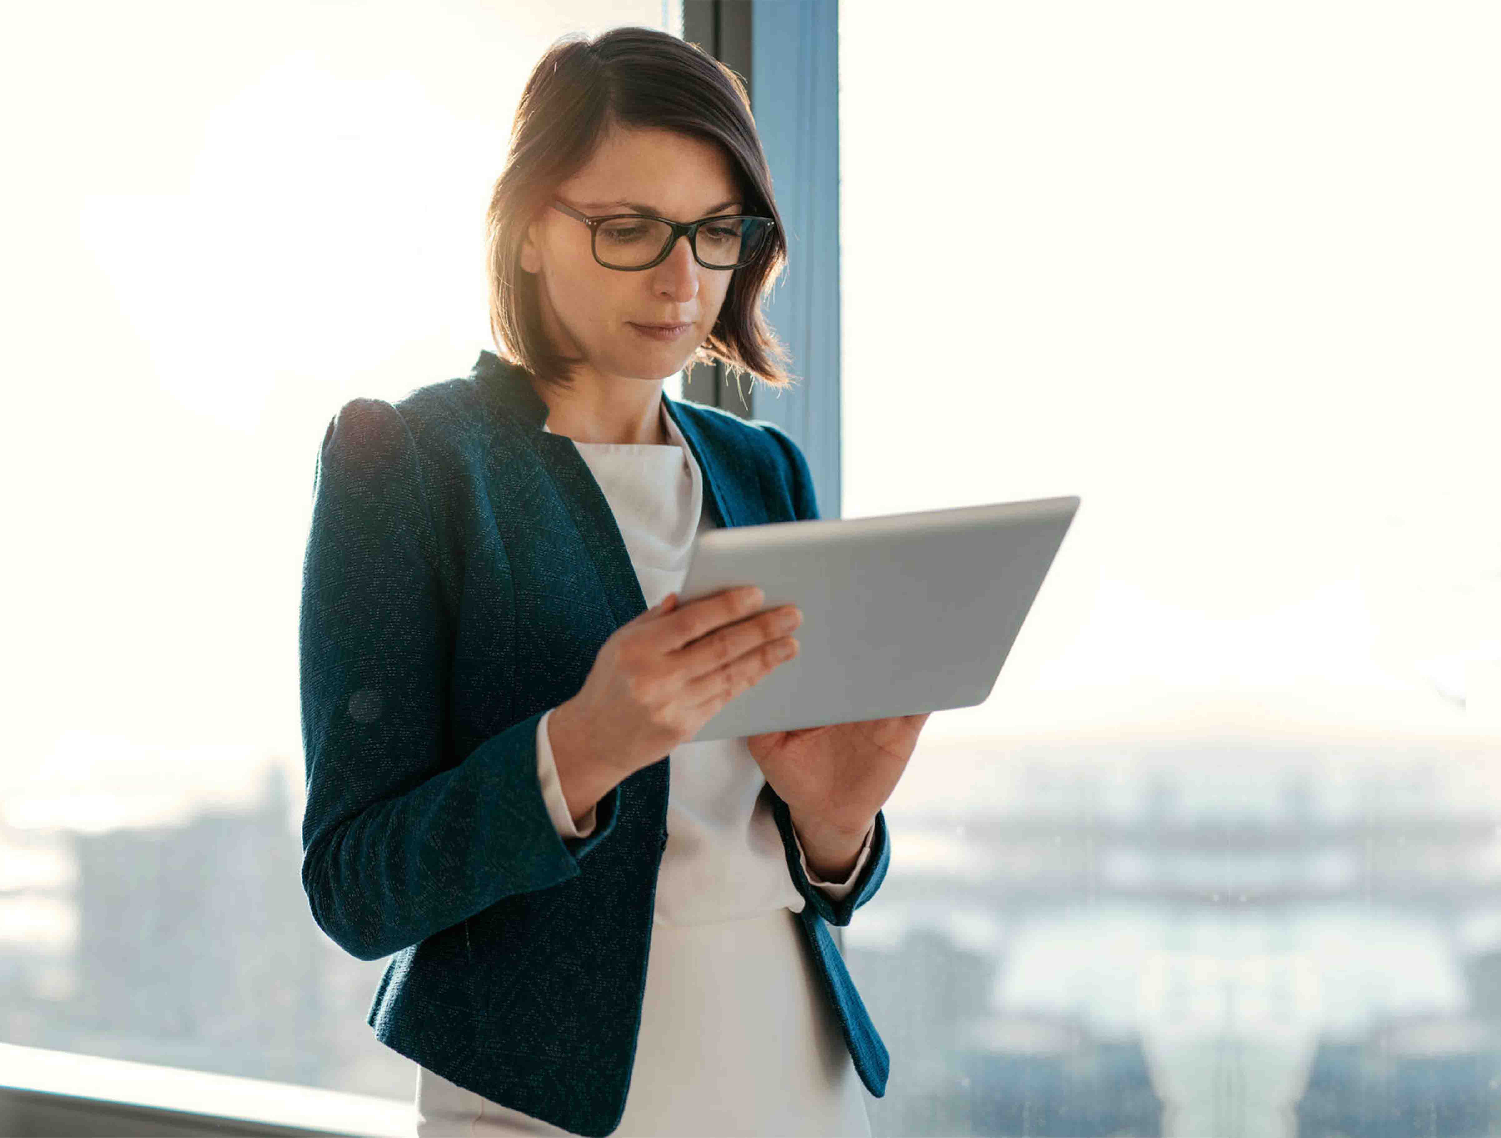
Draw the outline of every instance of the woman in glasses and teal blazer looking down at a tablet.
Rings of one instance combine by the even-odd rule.
[[[711,357],[790,381],[744,89],[659,32],[560,41],[489,248],[506,357],[350,401],[318,456],[312,914],[393,956],[369,1024],[419,1133],[869,1133],[887,1054],[827,923],[880,887],[928,716],[686,742],[800,619],[680,604],[693,537],[818,516],[785,432],[662,392]]]

